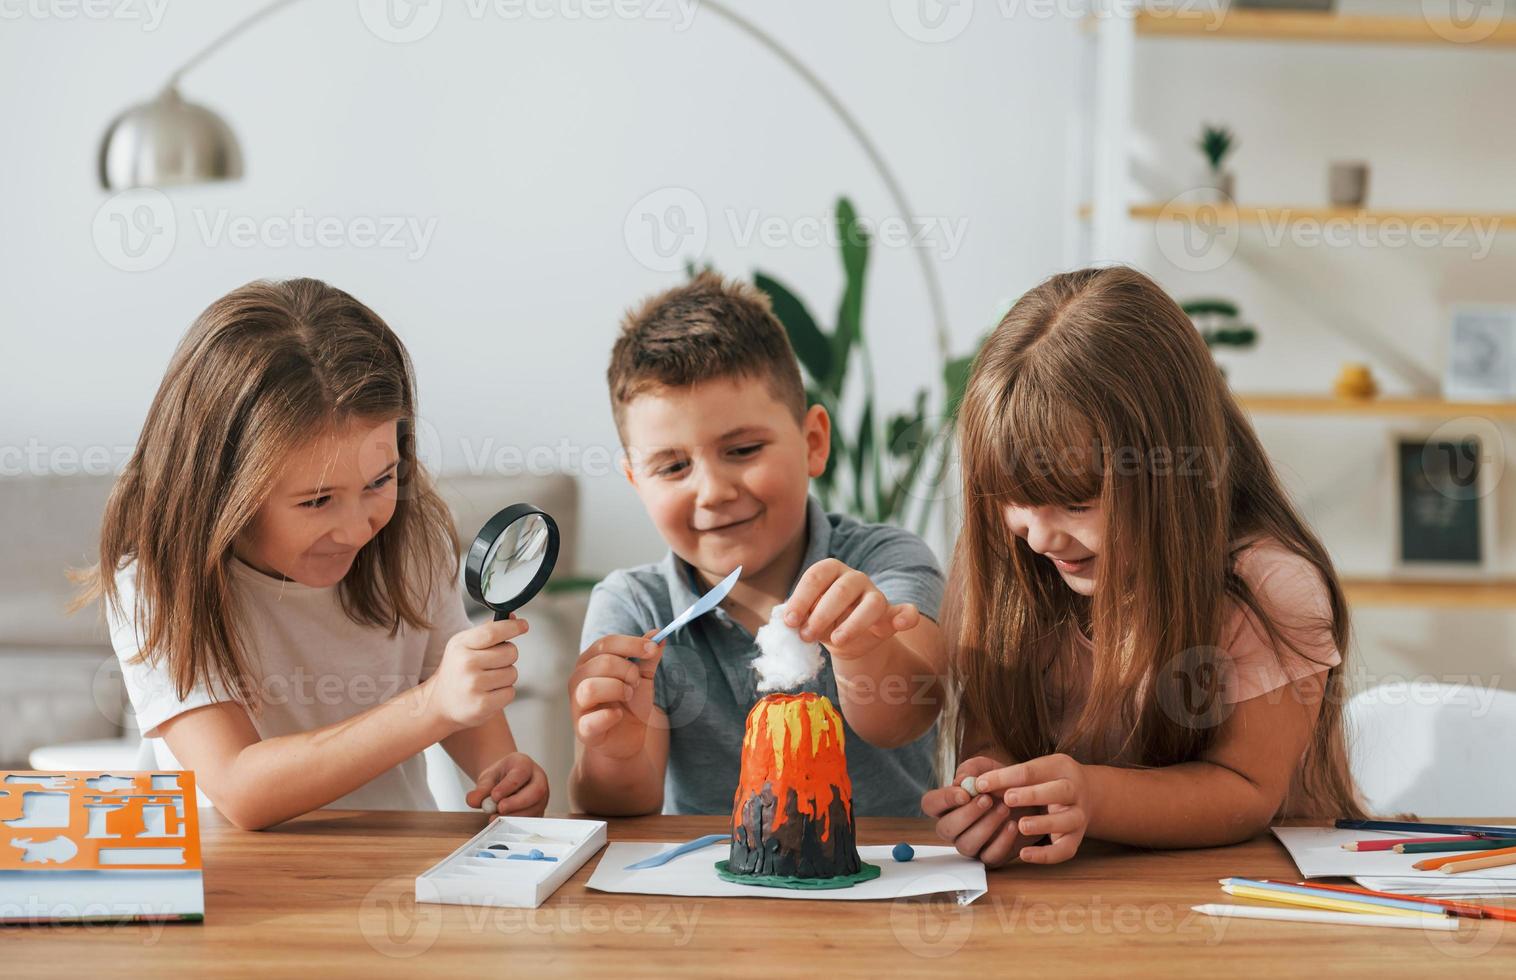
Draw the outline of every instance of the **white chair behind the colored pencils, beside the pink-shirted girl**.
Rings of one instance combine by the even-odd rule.
[[[1348,724],[1370,813],[1516,816],[1516,692],[1381,684],[1348,702]]]

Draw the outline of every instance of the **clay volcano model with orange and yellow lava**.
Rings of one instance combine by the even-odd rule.
[[[858,857],[843,719],[823,695],[769,695],[747,713],[732,801],[728,881],[849,887],[879,875]]]

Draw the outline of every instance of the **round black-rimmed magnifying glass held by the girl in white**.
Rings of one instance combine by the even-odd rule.
[[[558,525],[531,504],[512,504],[479,528],[464,586],[499,622],[541,590],[558,563]]]

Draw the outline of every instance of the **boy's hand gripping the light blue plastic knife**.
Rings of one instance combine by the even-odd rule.
[[[573,733],[585,748],[611,759],[631,759],[647,742],[653,711],[653,674],[662,643],[644,636],[603,636],[579,654],[568,675]]]

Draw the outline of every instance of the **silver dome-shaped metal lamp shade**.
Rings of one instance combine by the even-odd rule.
[[[241,176],[243,150],[232,127],[171,86],[118,115],[100,144],[100,185],[108,191]]]

